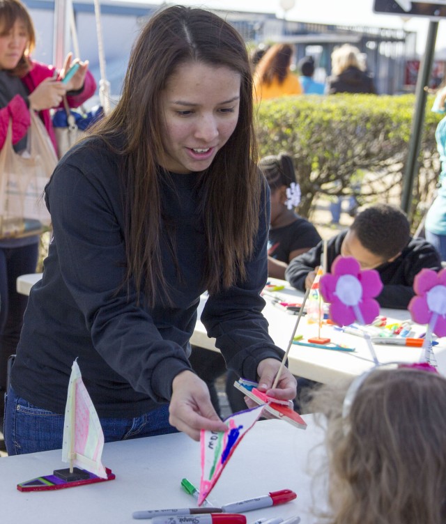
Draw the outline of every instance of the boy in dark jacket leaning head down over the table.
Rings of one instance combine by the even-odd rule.
[[[312,286],[321,263],[323,242],[296,256],[285,272],[286,279],[301,291]],[[384,284],[376,298],[381,307],[406,309],[415,295],[413,279],[422,268],[441,269],[440,254],[424,238],[412,238],[406,215],[388,204],[378,204],[357,215],[347,231],[327,242],[330,272],[336,257],[353,256],[362,269],[376,269]]]

